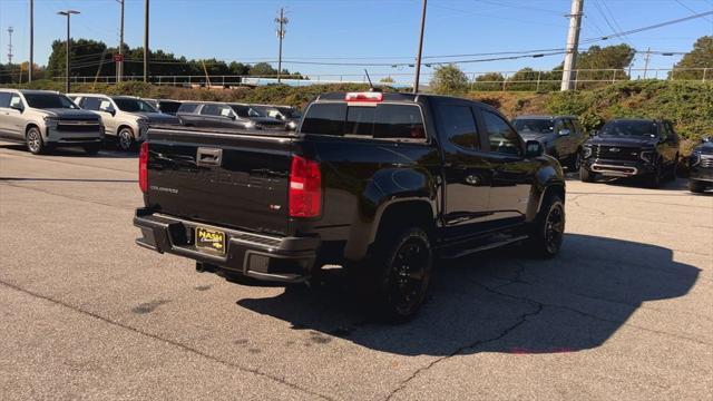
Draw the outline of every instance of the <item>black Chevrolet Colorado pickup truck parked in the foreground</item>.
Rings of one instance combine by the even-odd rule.
[[[450,97],[324,94],[296,131],[154,127],[139,184],[138,245],[285,283],[339,264],[395,319],[421,305],[437,256],[526,241],[550,257],[565,229],[559,164]]]

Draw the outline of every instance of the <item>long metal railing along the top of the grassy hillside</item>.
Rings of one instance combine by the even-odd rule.
[[[561,71],[531,70],[531,71],[476,71],[465,72],[468,86],[471,90],[559,90]],[[433,74],[422,75],[424,81],[430,81]],[[364,74],[315,74],[303,75],[303,79],[285,78],[282,82],[290,86],[310,86],[318,84],[368,84]],[[497,77],[497,79],[484,79],[484,77]],[[55,77],[55,80],[64,81],[65,77]],[[125,76],[124,80],[143,80],[143,76]],[[411,87],[412,74],[371,74],[374,85],[389,85],[393,87]],[[602,86],[627,80],[664,79],[664,80],[693,80],[706,81],[713,79],[713,68],[657,68],[657,69],[579,69],[575,70],[574,85],[576,88]],[[80,76],[70,77],[74,84],[108,84],[117,82],[116,76]],[[209,87],[232,88],[240,86],[263,86],[277,82],[276,76],[150,76],[149,81],[159,86],[175,87]]]

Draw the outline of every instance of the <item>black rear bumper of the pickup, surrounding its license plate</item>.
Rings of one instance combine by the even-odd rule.
[[[141,229],[141,237],[136,239],[136,244],[141,247],[273,282],[306,281],[320,246],[318,237],[253,234],[154,214],[145,208],[136,211],[134,225]],[[225,254],[216,255],[197,250],[194,245],[197,226],[223,231],[226,239]]]

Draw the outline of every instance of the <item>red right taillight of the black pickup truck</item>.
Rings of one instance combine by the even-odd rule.
[[[322,212],[320,164],[292,156],[290,168],[290,217],[318,217]]]

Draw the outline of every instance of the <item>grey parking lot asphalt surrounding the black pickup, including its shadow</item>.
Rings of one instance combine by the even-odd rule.
[[[134,244],[137,159],[0,143],[0,394],[25,399],[713,398],[713,196],[567,182],[561,254],[441,263],[419,316],[237,285]]]

